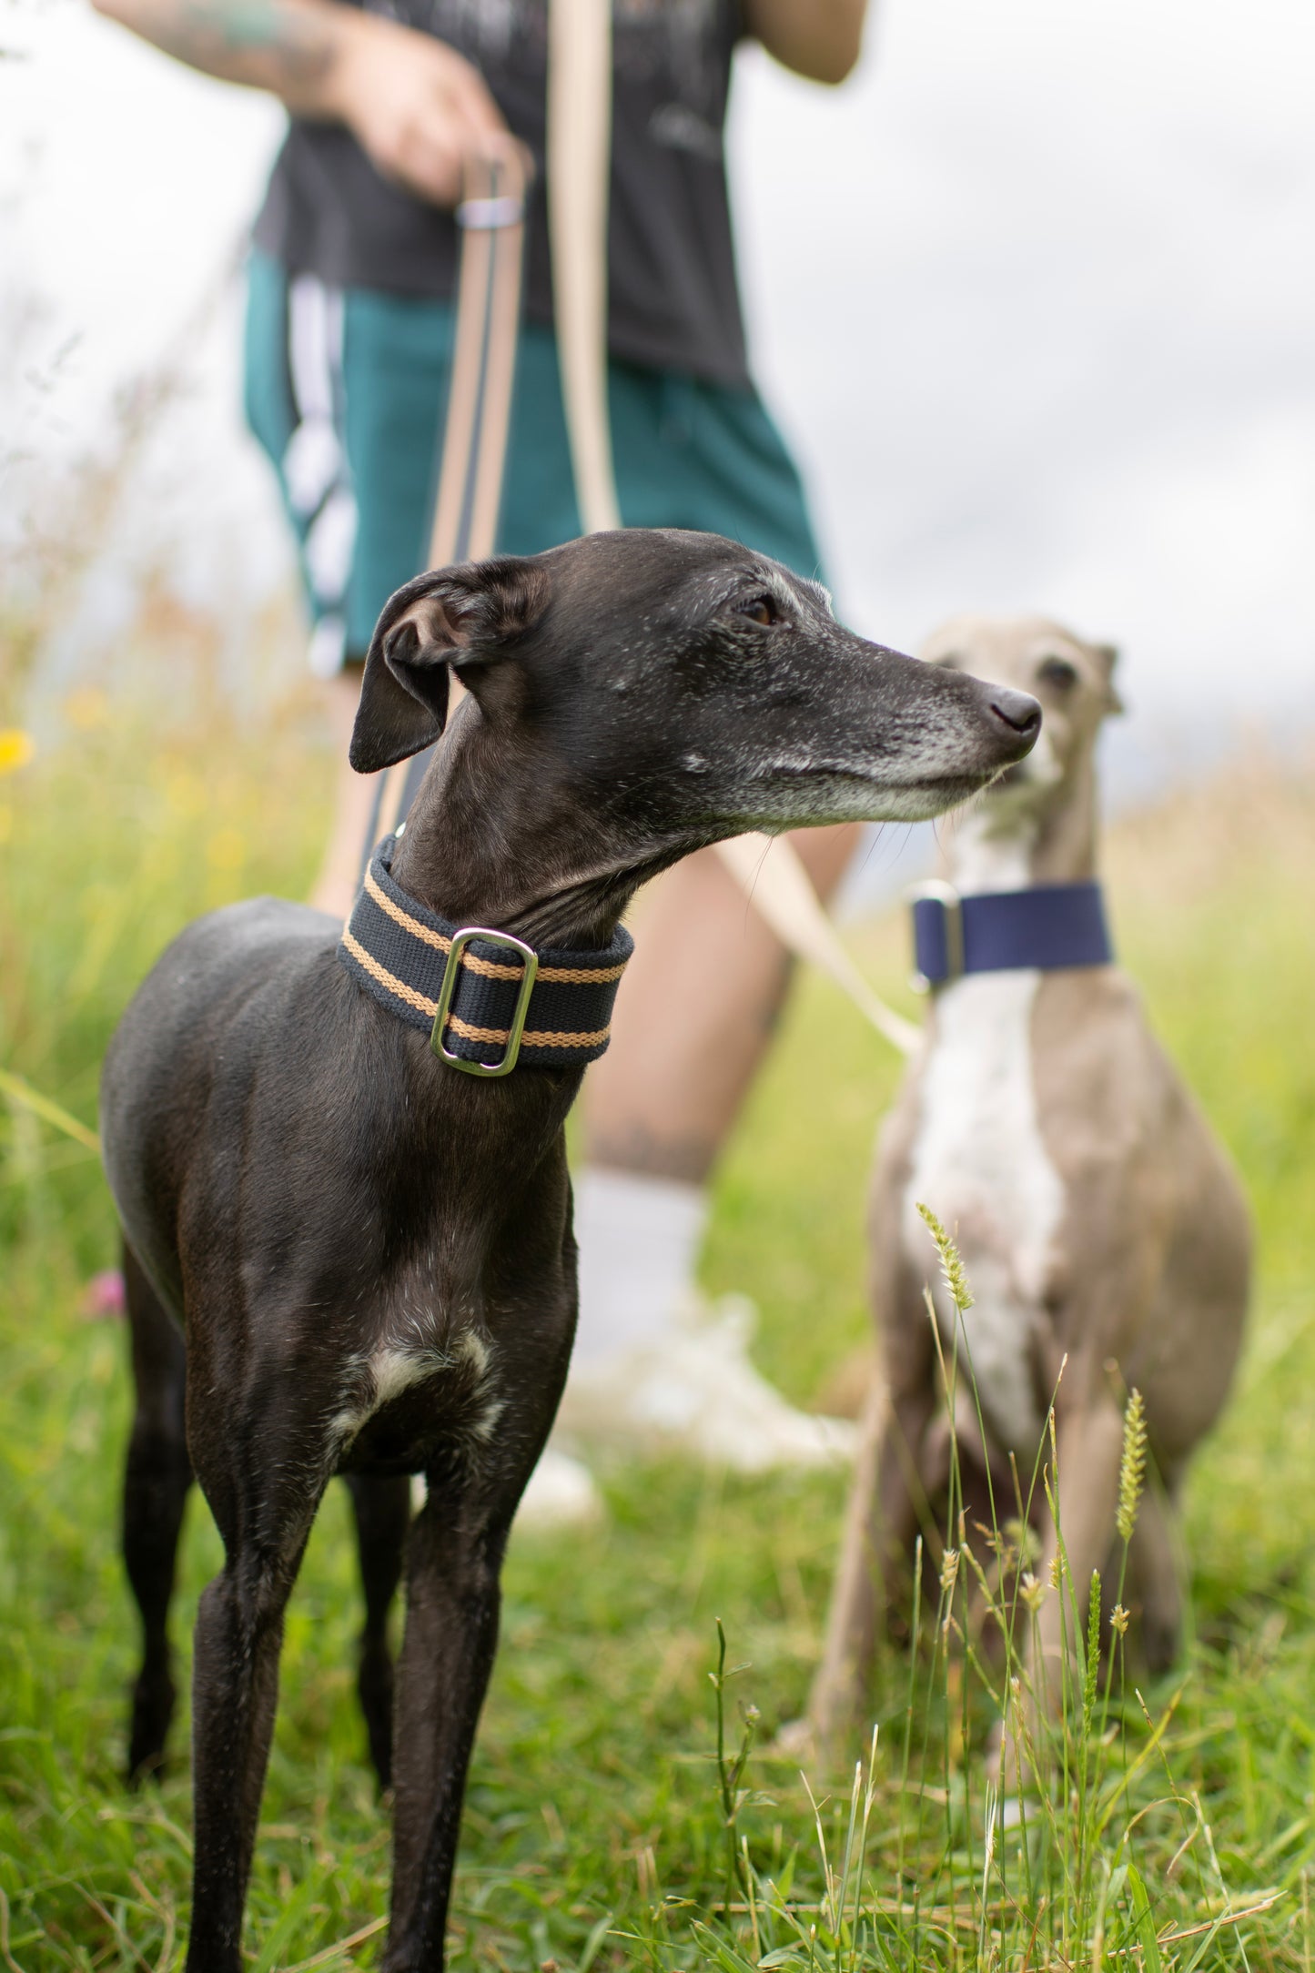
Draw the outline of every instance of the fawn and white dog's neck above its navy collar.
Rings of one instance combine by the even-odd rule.
[[[1041,803],[1002,789],[970,807],[946,840],[946,872],[964,894],[1082,884],[1096,874],[1096,771],[1076,762]]]

